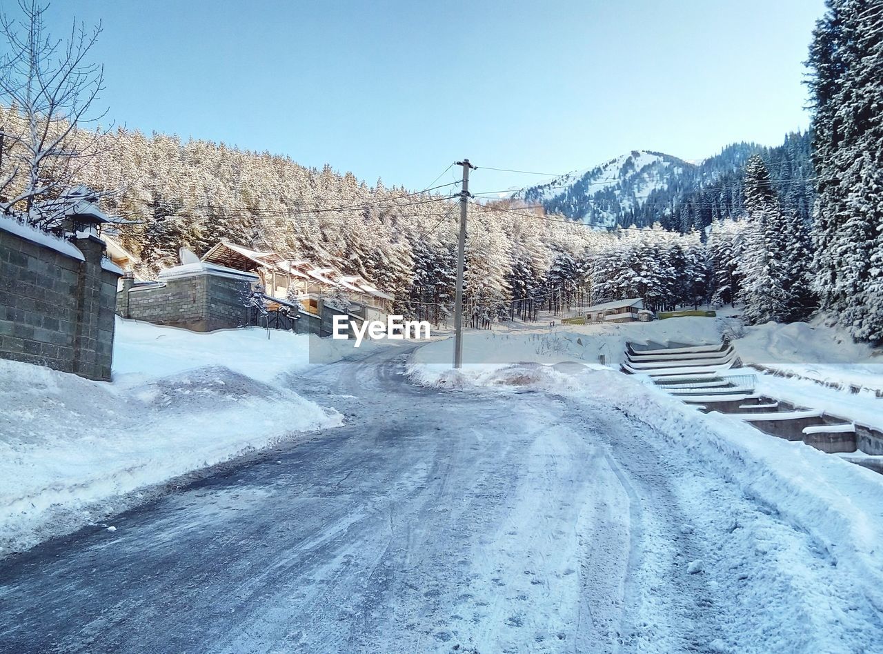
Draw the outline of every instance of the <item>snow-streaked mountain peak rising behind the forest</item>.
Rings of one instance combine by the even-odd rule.
[[[642,207],[652,192],[678,184],[694,164],[670,154],[632,150],[592,169],[571,172],[522,189],[513,199],[541,204],[593,225],[612,227]]]

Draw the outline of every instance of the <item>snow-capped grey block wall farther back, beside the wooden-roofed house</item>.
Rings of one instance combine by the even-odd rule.
[[[158,282],[133,284],[130,277],[117,295],[124,318],[157,325],[185,327],[195,332],[244,327],[246,305],[257,275],[222,270],[208,264],[170,268]]]

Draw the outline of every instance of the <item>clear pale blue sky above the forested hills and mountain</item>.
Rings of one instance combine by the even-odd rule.
[[[823,0],[56,0],[104,33],[102,99],[143,132],[422,188],[455,159],[564,172],[805,129]],[[449,180],[450,173],[446,177]],[[473,191],[535,178],[479,170]]]

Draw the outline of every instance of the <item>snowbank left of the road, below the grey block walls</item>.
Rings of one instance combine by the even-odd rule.
[[[97,522],[137,489],[339,425],[285,385],[314,338],[118,320],[113,383],[0,360],[0,556]]]

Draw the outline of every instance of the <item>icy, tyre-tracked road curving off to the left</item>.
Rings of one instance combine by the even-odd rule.
[[[0,564],[0,650],[859,651],[804,531],[607,406],[292,380],[347,414]]]

